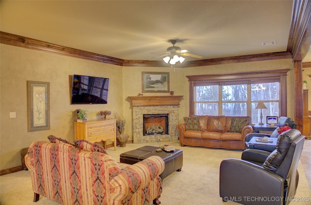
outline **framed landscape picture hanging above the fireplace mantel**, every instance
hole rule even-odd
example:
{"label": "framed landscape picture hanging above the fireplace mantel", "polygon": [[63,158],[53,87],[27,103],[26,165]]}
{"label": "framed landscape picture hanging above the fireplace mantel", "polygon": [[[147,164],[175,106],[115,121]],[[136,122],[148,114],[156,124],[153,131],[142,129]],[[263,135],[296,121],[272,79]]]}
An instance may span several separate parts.
{"label": "framed landscape picture hanging above the fireplace mantel", "polygon": [[142,72],[142,92],[170,92],[170,73]]}

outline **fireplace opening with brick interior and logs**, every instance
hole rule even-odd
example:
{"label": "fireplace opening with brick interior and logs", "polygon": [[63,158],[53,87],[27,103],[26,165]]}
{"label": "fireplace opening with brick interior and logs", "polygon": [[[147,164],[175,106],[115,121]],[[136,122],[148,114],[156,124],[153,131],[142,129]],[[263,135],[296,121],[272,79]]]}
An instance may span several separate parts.
{"label": "fireplace opening with brick interior and logs", "polygon": [[168,135],[169,114],[143,115],[143,135]]}

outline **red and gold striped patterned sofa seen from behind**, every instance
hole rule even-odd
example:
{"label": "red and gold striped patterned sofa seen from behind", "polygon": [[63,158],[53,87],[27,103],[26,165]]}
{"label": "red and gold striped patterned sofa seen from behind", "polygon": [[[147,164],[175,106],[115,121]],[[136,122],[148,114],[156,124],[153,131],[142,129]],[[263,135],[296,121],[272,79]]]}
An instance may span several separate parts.
{"label": "red and gold striped patterned sofa seen from behind", "polygon": [[62,205],[159,204],[164,161],[149,157],[134,165],[122,164],[102,146],[86,140],[70,143],[49,136],[35,141],[25,156],[35,192]]}

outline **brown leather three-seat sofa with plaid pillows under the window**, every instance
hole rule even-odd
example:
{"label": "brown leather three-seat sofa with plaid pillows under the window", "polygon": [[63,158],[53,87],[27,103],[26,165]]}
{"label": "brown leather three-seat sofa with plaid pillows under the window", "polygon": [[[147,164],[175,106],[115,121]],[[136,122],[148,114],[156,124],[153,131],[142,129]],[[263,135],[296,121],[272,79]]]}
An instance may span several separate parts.
{"label": "brown leather three-seat sofa with plaid pillows under the window", "polygon": [[249,116],[190,116],[184,121],[176,126],[181,146],[244,150],[245,136],[253,132]]}

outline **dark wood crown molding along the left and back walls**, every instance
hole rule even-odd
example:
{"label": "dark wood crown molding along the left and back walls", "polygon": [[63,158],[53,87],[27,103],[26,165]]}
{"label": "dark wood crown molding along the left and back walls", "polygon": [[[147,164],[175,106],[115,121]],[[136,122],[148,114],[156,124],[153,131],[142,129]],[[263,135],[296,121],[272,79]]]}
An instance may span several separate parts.
{"label": "dark wood crown molding along the left and back walls", "polygon": [[[0,43],[11,46],[17,46],[27,49],[49,51],[61,55],[82,58],[86,60],[98,61],[102,63],[124,66],[124,67],[169,67],[163,61],[146,61],[146,60],[123,60],[120,58],[114,58],[107,55],[98,53],[82,51],[78,49],[69,48],[66,46],[56,45],[45,41],[36,40],[16,34],[10,34],[0,31]],[[200,66],[211,66],[228,63],[242,63],[242,62],[253,62],[253,61],[265,61],[265,60],[277,60],[292,58],[290,52],[274,52],[274,53],[263,53],[255,55],[243,55],[226,58],[214,58],[205,60],[186,61],[179,68],[189,67],[200,67]],[[176,66],[177,67],[177,66]]]}

